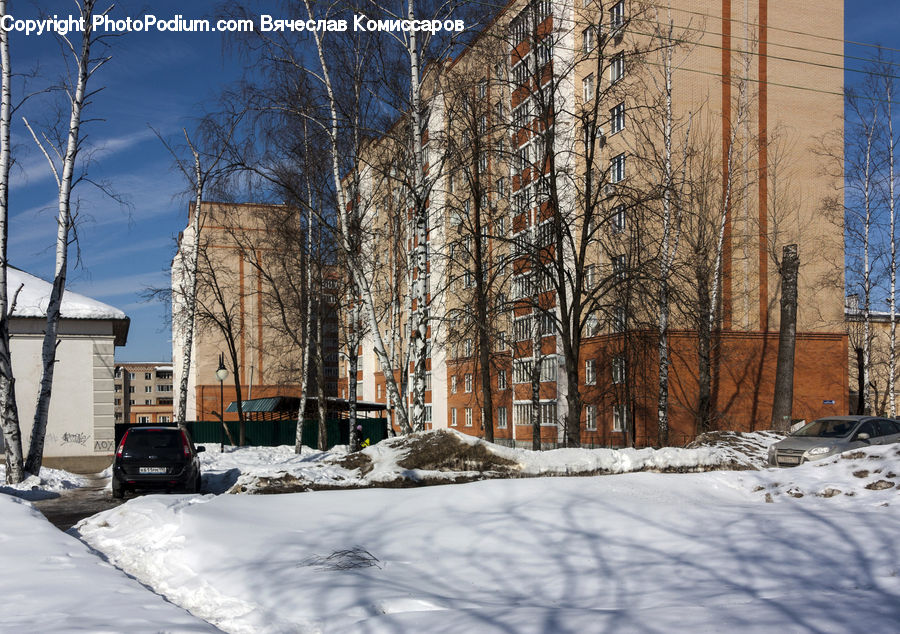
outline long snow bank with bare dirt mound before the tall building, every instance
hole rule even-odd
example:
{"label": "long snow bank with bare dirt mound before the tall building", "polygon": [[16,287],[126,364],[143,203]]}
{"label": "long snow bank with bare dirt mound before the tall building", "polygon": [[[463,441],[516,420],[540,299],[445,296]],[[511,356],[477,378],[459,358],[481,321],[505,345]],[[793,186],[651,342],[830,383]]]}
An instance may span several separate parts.
{"label": "long snow bank with bare dirt mound before the tall building", "polygon": [[346,446],[320,452],[307,447],[254,447],[201,454],[204,491],[284,493],[370,486],[416,486],[544,475],[597,475],[633,471],[709,471],[765,466],[768,432],[723,435],[694,448],[554,449],[531,451],[485,442],[454,430],[384,440],[350,454]]}

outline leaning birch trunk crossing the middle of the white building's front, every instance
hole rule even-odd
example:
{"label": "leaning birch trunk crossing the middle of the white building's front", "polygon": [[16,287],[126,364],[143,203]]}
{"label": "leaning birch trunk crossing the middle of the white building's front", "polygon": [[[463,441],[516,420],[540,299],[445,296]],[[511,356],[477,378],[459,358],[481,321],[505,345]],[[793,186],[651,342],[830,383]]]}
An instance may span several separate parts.
{"label": "leaning birch trunk crossing the middle of the white building's front", "polygon": [[50,413],[50,394],[53,388],[53,370],[56,365],[56,347],[59,345],[56,335],[59,331],[60,309],[62,307],[63,294],[66,288],[69,231],[72,226],[70,200],[72,195],[72,180],[75,174],[75,159],[78,154],[78,145],[81,140],[81,111],[84,107],[85,95],[87,94],[88,79],[97,68],[97,66],[93,69],[90,68],[91,44],[93,42],[93,29],[91,26],[93,11],[94,0],[85,0],[84,5],[81,8],[85,27],[81,38],[81,52],[78,55],[77,60],[78,79],[75,84],[74,92],[68,93],[71,100],[69,132],[66,140],[66,151],[62,162],[62,171],[57,177],[59,197],[57,202],[58,211],[56,220],[56,267],[53,275],[53,284],[50,290],[50,300],[47,304],[47,326],[44,331],[44,342],[41,346],[42,369],[40,390],[38,392],[37,405],[35,407],[34,425],[31,431],[31,443],[28,448],[28,459],[25,462],[25,471],[34,475],[40,473],[44,457],[44,439],[47,435],[47,420]]}

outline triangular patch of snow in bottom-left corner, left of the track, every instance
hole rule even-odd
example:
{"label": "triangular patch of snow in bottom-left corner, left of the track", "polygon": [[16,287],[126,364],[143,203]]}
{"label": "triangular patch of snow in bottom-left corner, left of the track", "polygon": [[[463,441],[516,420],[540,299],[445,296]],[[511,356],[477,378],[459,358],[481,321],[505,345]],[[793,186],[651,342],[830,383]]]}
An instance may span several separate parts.
{"label": "triangular patch of snow in bottom-left corner, left of the track", "polygon": [[0,495],[0,517],[0,631],[213,631],[61,533],[30,504]]}

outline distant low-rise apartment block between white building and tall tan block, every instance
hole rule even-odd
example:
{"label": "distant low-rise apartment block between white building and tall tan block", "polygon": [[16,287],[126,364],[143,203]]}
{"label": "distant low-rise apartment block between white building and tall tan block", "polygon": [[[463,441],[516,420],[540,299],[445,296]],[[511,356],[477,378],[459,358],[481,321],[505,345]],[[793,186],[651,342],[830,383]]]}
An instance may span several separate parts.
{"label": "distant low-rise apartment block between white building and tall tan block", "polygon": [[174,420],[170,362],[119,363],[113,389],[117,423],[170,423]]}

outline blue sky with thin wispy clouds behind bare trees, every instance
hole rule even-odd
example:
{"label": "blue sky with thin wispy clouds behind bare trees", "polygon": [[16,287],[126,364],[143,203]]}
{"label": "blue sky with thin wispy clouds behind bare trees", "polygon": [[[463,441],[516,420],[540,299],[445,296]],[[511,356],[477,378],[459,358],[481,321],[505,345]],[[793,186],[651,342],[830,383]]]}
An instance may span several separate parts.
{"label": "blue sky with thin wispy clouds behind bare trees", "polygon": [[[260,2],[280,15],[278,2]],[[50,13],[68,15],[69,2],[43,2]],[[143,4],[126,1],[119,17],[141,15]],[[160,19],[217,17],[215,3],[162,0],[152,4]],[[845,38],[900,49],[895,0],[861,1],[847,11]],[[18,11],[18,13],[17,13]],[[36,17],[29,3],[14,2],[16,17]],[[171,341],[166,314],[156,303],[142,299],[148,286],[167,284],[166,272],[174,240],[186,222],[186,183],[172,169],[172,158],[149,126],[178,142],[182,127],[192,128],[204,103],[216,99],[228,82],[242,75],[242,63],[227,53],[227,40],[218,33],[128,33],[114,38],[112,60],[95,77],[104,90],[94,98],[86,116],[101,119],[87,124],[88,146],[95,151],[91,177],[108,182],[125,196],[129,207],[106,198],[90,185],[76,191],[83,222],[79,229],[82,266],[70,268],[69,288],[124,310],[131,317],[128,345],[119,348],[120,361],[168,360]],[[871,57],[873,49],[847,46],[847,53]],[[13,34],[14,70],[39,64],[41,74],[61,72],[59,45],[52,35]],[[900,57],[900,53],[897,53]],[[858,67],[858,63],[852,65]],[[855,74],[847,76],[855,80]],[[10,193],[10,261],[32,274],[53,275],[55,186],[43,157],[18,115],[40,120],[46,100],[36,100],[17,113],[13,140],[18,144]]]}

